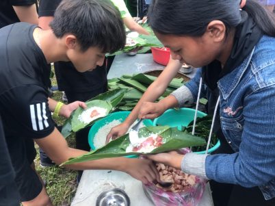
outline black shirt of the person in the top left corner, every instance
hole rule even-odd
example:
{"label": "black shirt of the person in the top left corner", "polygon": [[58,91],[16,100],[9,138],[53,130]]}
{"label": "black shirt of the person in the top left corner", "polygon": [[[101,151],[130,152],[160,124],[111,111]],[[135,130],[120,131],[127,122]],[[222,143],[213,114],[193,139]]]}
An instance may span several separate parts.
{"label": "black shirt of the person in the top left corner", "polygon": [[0,28],[12,23],[20,22],[13,5],[32,5],[37,3],[36,0],[1,0],[0,1]]}

